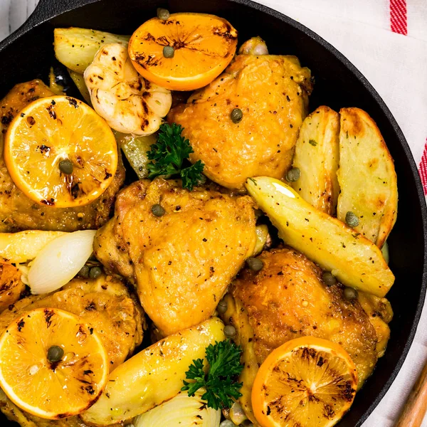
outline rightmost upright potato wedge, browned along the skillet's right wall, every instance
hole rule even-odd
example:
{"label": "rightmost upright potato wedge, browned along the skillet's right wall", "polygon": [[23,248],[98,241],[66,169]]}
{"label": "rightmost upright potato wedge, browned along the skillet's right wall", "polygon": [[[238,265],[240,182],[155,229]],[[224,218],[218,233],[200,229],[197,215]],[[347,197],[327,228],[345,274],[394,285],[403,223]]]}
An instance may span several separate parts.
{"label": "rightmost upright potato wedge, browned along the skillet's right wall", "polygon": [[374,120],[359,108],[342,108],[339,132],[337,218],[351,211],[354,227],[376,246],[383,246],[396,222],[397,178],[394,162]]}

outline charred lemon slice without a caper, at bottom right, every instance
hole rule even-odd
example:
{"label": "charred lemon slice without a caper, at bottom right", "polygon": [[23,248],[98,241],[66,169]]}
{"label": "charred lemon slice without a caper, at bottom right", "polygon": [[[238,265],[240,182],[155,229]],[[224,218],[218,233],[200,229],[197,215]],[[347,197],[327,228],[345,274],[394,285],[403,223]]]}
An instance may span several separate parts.
{"label": "charred lemon slice without a caper, at bottom right", "polygon": [[330,427],[348,411],[356,389],[356,367],[339,344],[291,339],[261,365],[253,412],[263,427]]}

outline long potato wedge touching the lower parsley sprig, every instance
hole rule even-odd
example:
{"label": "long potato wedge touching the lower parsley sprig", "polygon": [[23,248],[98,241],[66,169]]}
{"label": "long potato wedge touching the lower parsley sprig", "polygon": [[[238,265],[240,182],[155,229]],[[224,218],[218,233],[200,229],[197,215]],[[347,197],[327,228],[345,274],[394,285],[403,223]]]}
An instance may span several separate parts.
{"label": "long potato wedge touching the lower parsley sprig", "polygon": [[225,339],[223,326],[211,317],[135,354],[112,371],[100,399],[80,417],[90,425],[108,426],[172,399],[193,359],[204,359],[209,344]]}

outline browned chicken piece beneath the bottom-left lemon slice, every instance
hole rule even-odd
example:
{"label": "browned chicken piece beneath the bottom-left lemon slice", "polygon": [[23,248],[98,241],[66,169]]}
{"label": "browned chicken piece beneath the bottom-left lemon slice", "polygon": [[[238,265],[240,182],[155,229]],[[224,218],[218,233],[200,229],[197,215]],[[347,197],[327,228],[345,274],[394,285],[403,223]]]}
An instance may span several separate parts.
{"label": "browned chicken piece beneath the bottom-left lemon slice", "polygon": [[[60,308],[78,315],[92,326],[107,350],[110,371],[125,362],[141,344],[146,329],[144,313],[122,280],[102,275],[97,279],[75,278],[58,292],[19,300],[1,313],[0,334],[16,317],[39,307]],[[78,416],[53,421],[21,411],[1,390],[0,409],[22,427],[85,427]]]}

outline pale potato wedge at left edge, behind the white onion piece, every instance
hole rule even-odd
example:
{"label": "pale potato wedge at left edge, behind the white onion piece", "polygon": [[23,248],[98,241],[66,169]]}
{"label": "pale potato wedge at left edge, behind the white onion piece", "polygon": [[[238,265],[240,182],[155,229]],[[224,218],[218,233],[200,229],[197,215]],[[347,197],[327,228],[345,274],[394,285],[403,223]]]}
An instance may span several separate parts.
{"label": "pale potato wedge at left edge, behind the white onion piece", "polygon": [[63,231],[19,231],[0,233],[0,260],[4,263],[26,263],[36,258],[41,249]]}

